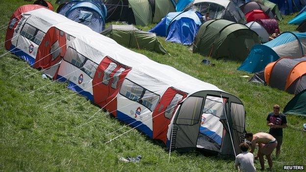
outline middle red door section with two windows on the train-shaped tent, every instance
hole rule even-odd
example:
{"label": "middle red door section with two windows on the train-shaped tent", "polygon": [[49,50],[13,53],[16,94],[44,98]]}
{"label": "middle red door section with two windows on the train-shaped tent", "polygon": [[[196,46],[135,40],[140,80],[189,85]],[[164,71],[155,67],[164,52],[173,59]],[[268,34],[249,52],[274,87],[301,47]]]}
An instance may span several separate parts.
{"label": "middle red door section with two windows on the train-shaped tent", "polygon": [[93,78],[94,102],[116,116],[117,99],[125,77],[130,71],[130,67],[125,66],[114,59],[106,56],[98,66]]}

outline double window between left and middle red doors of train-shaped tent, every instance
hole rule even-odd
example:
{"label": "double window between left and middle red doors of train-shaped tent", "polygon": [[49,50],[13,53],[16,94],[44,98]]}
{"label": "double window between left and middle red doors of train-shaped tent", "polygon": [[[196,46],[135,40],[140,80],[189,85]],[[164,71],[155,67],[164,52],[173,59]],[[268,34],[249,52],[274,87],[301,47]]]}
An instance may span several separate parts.
{"label": "double window between left and middle red doors of train-shaped tent", "polygon": [[98,64],[69,47],[65,53],[64,60],[79,68],[91,78],[94,77]]}

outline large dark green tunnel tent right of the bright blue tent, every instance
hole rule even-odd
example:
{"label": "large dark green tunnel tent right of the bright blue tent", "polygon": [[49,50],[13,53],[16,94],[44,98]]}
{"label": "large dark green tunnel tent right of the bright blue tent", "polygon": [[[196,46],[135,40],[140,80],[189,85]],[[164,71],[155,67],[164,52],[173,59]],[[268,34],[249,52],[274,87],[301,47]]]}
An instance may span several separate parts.
{"label": "large dark green tunnel tent right of the bright blue tent", "polygon": [[218,19],[201,25],[191,48],[204,56],[243,61],[259,43],[257,33],[246,25]]}

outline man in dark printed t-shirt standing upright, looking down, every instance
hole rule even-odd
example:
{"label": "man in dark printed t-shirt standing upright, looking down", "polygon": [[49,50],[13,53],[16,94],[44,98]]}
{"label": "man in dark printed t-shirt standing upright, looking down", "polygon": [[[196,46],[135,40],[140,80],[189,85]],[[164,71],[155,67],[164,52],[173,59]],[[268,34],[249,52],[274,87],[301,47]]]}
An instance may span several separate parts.
{"label": "man in dark printed t-shirt standing upright, looking down", "polygon": [[286,116],[280,113],[280,105],[273,106],[273,112],[267,117],[267,125],[270,126],[269,134],[276,138],[278,145],[276,147],[276,157],[280,155],[280,147],[282,144],[282,128],[287,127]]}

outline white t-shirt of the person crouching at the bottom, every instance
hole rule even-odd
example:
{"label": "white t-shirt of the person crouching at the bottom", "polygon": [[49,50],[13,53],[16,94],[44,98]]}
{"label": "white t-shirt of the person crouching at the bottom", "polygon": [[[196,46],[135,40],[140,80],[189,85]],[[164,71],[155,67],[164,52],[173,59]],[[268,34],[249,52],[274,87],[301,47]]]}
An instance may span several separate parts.
{"label": "white t-shirt of the person crouching at the bottom", "polygon": [[250,152],[242,152],[236,156],[235,165],[239,165],[241,172],[255,172],[254,155]]}

